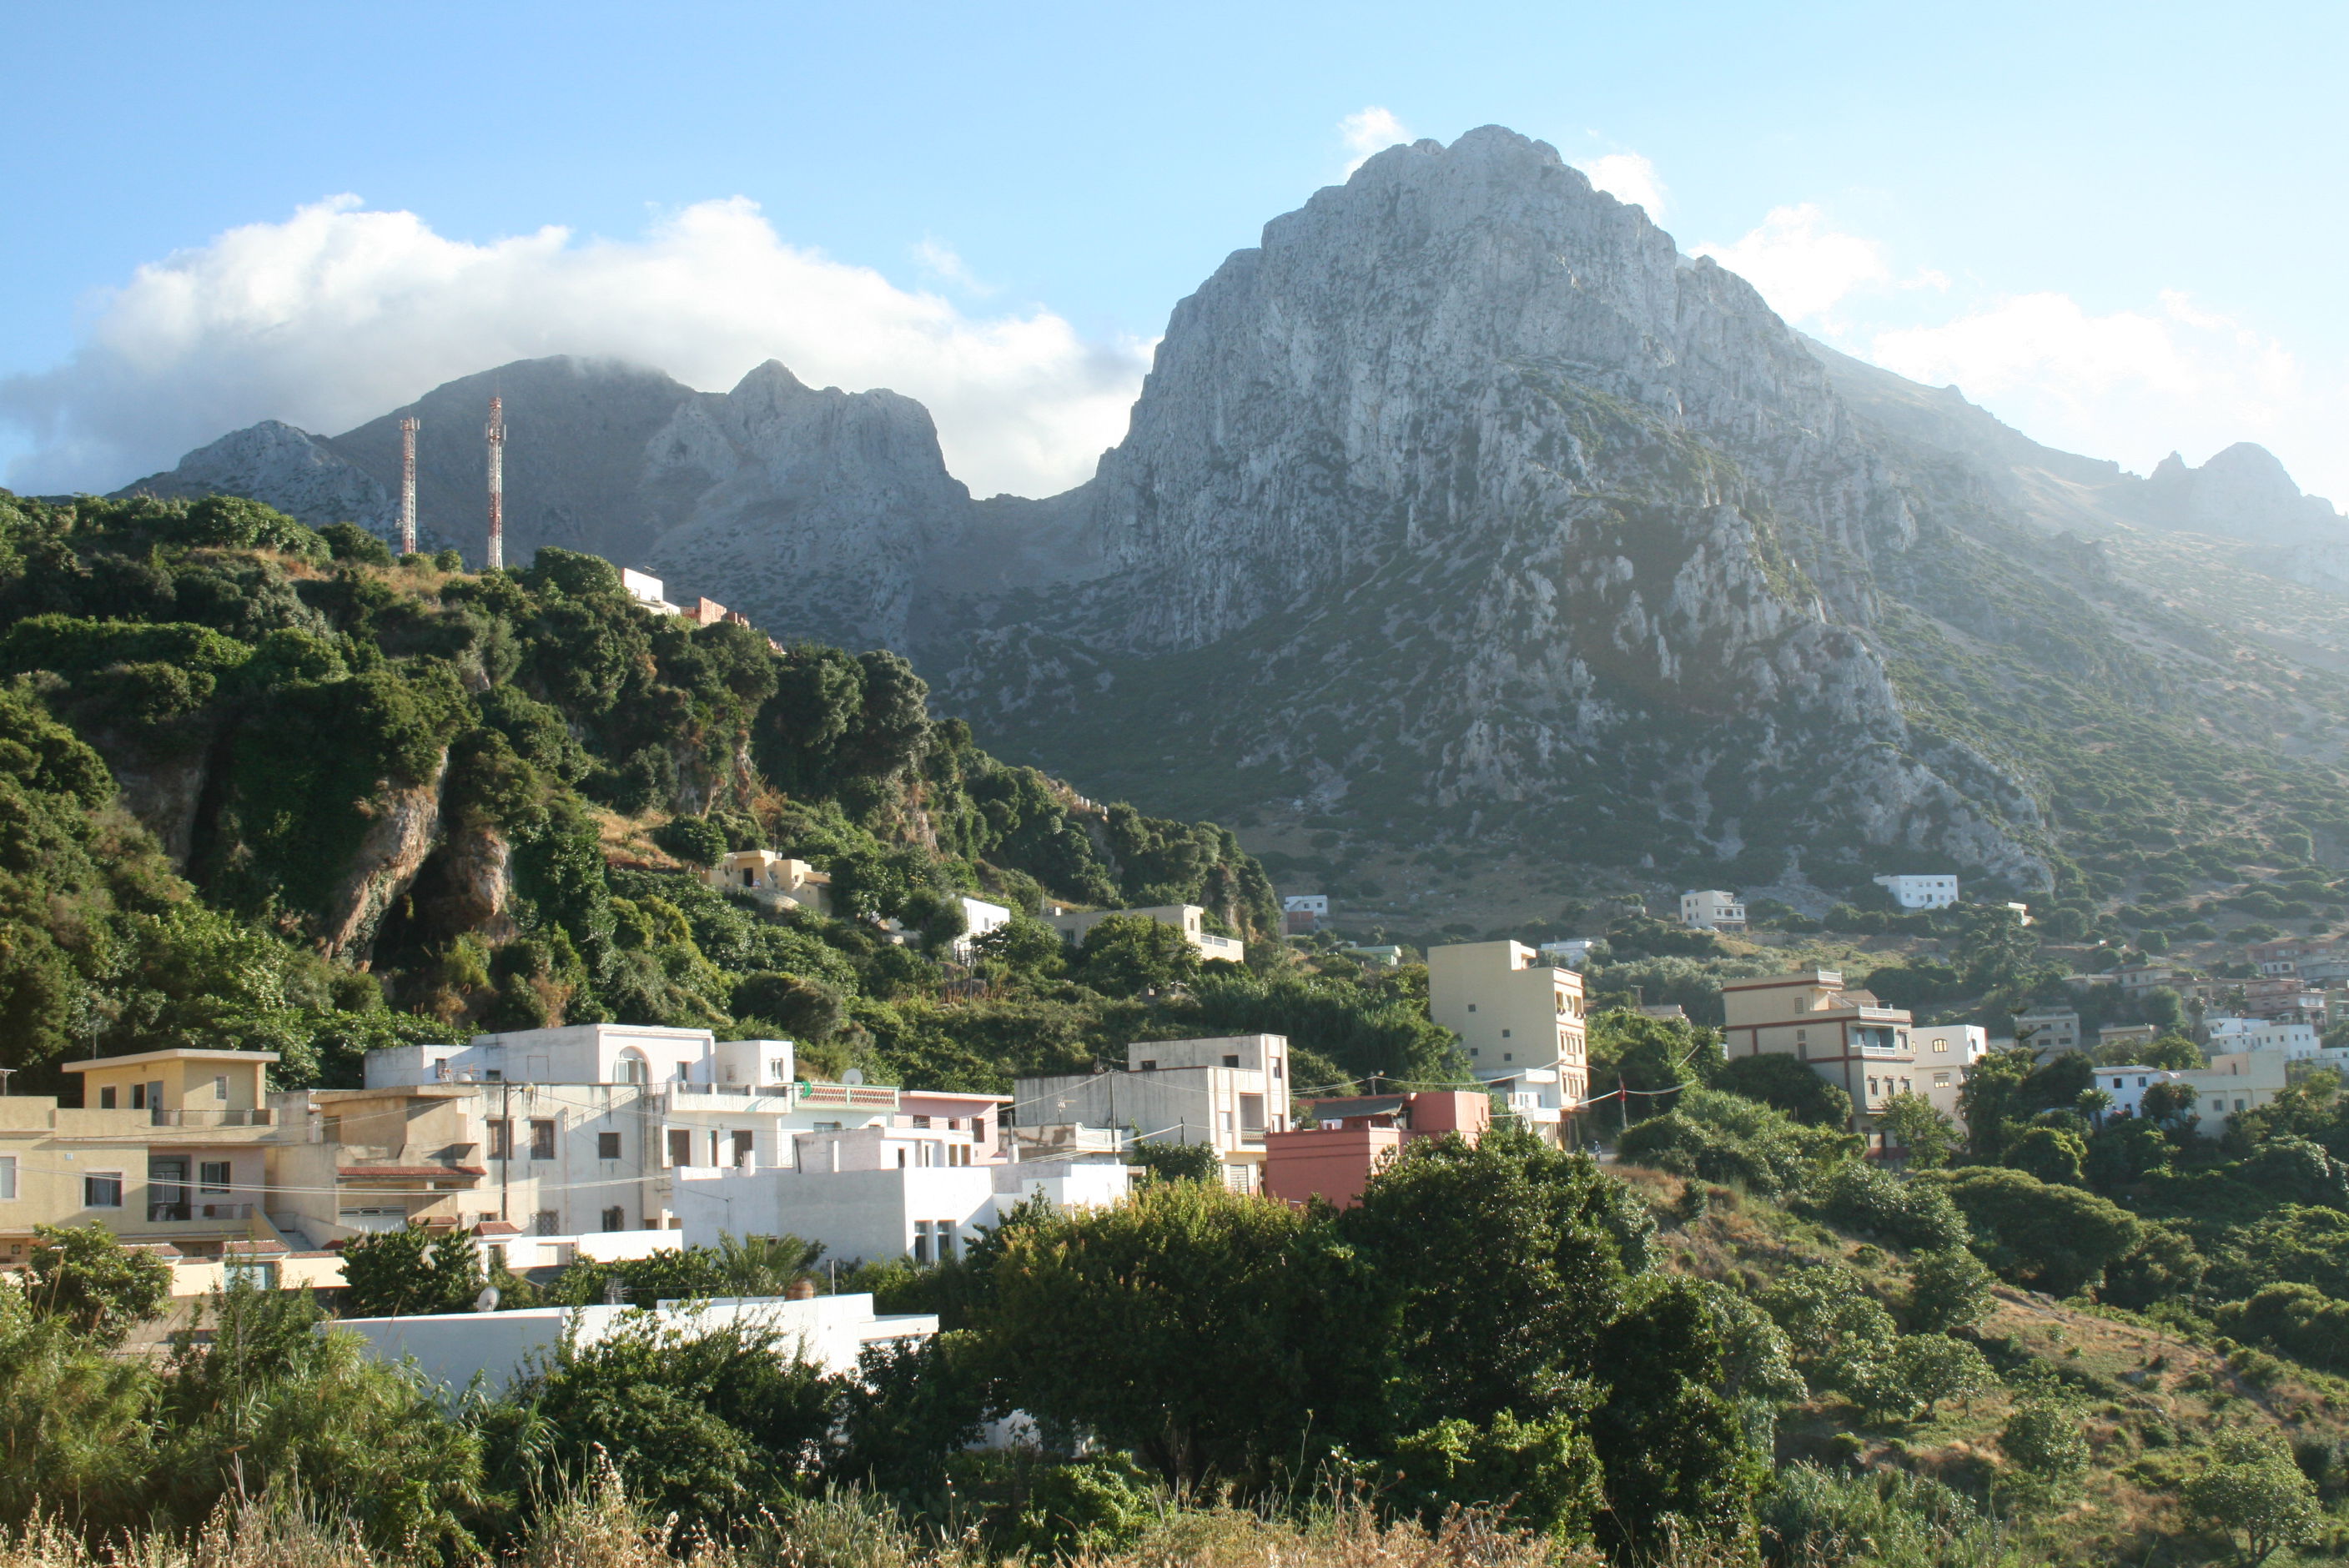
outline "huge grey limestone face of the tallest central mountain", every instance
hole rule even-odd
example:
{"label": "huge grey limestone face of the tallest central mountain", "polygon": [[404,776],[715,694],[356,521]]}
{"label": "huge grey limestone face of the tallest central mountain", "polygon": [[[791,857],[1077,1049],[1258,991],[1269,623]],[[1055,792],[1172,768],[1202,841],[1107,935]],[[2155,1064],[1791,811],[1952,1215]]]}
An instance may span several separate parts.
{"label": "huge grey limestone face of the tallest central mountain", "polygon": [[2027,791],[1903,716],[1870,627],[1917,519],[1818,359],[1541,143],[1395,148],[1276,218],[1085,505],[1106,575],[972,615],[982,730],[1083,756],[1179,667],[1156,728],[1233,796],[2044,876]]}

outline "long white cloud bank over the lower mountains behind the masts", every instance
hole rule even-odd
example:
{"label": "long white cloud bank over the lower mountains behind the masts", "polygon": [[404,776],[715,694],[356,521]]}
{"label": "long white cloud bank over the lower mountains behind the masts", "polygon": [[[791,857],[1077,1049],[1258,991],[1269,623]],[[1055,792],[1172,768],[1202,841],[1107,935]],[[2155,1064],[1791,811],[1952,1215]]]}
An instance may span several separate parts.
{"label": "long white cloud bank over the lower mountains behind the masts", "polygon": [[254,420],[338,432],[533,354],[630,359],[707,390],[763,359],[810,385],[893,387],[928,404],[980,495],[1085,479],[1149,369],[1149,345],[1088,343],[1048,310],[968,317],[785,244],[747,200],[686,207],[641,239],[543,228],[467,244],[334,197],[139,268],[94,303],[68,361],[0,380],[0,420],[31,437],[9,484],[115,488]]}

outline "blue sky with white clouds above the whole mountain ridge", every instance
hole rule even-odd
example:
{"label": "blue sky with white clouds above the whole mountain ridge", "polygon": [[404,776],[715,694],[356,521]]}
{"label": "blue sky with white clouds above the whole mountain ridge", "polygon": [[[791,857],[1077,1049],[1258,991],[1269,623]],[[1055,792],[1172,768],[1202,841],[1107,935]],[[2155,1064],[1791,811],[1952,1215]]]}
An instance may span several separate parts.
{"label": "blue sky with white clouds above the whole mountain ridge", "polygon": [[[1541,136],[1806,331],[2135,469],[2349,500],[2349,7],[19,7],[0,465],[115,486],[519,352],[775,354],[975,488],[1384,136]],[[334,197],[352,197],[329,204]]]}

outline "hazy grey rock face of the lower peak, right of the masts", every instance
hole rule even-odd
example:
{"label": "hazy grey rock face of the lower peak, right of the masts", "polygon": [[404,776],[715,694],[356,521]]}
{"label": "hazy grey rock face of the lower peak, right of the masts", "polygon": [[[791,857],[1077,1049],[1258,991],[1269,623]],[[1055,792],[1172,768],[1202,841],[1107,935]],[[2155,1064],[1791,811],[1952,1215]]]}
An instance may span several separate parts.
{"label": "hazy grey rock face of the lower peak, right of the masts", "polygon": [[930,411],[895,392],[822,392],[768,359],[677,408],[644,491],[691,498],[651,566],[770,631],[904,643],[914,580],[970,521]]}

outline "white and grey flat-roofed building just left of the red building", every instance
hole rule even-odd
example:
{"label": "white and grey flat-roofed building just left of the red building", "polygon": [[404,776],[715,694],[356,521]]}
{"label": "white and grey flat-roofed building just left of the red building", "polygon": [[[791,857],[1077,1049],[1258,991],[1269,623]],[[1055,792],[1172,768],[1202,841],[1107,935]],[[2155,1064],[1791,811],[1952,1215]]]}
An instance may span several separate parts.
{"label": "white and grey flat-roofed building just left of the red building", "polygon": [[[1290,1127],[1290,1042],[1283,1035],[1144,1040],[1123,1073],[1022,1077],[1022,1134],[1052,1127],[1130,1129],[1142,1143],[1205,1143],[1233,1190],[1261,1188],[1264,1136]],[[1027,1160],[1027,1150],[1022,1150]]]}

